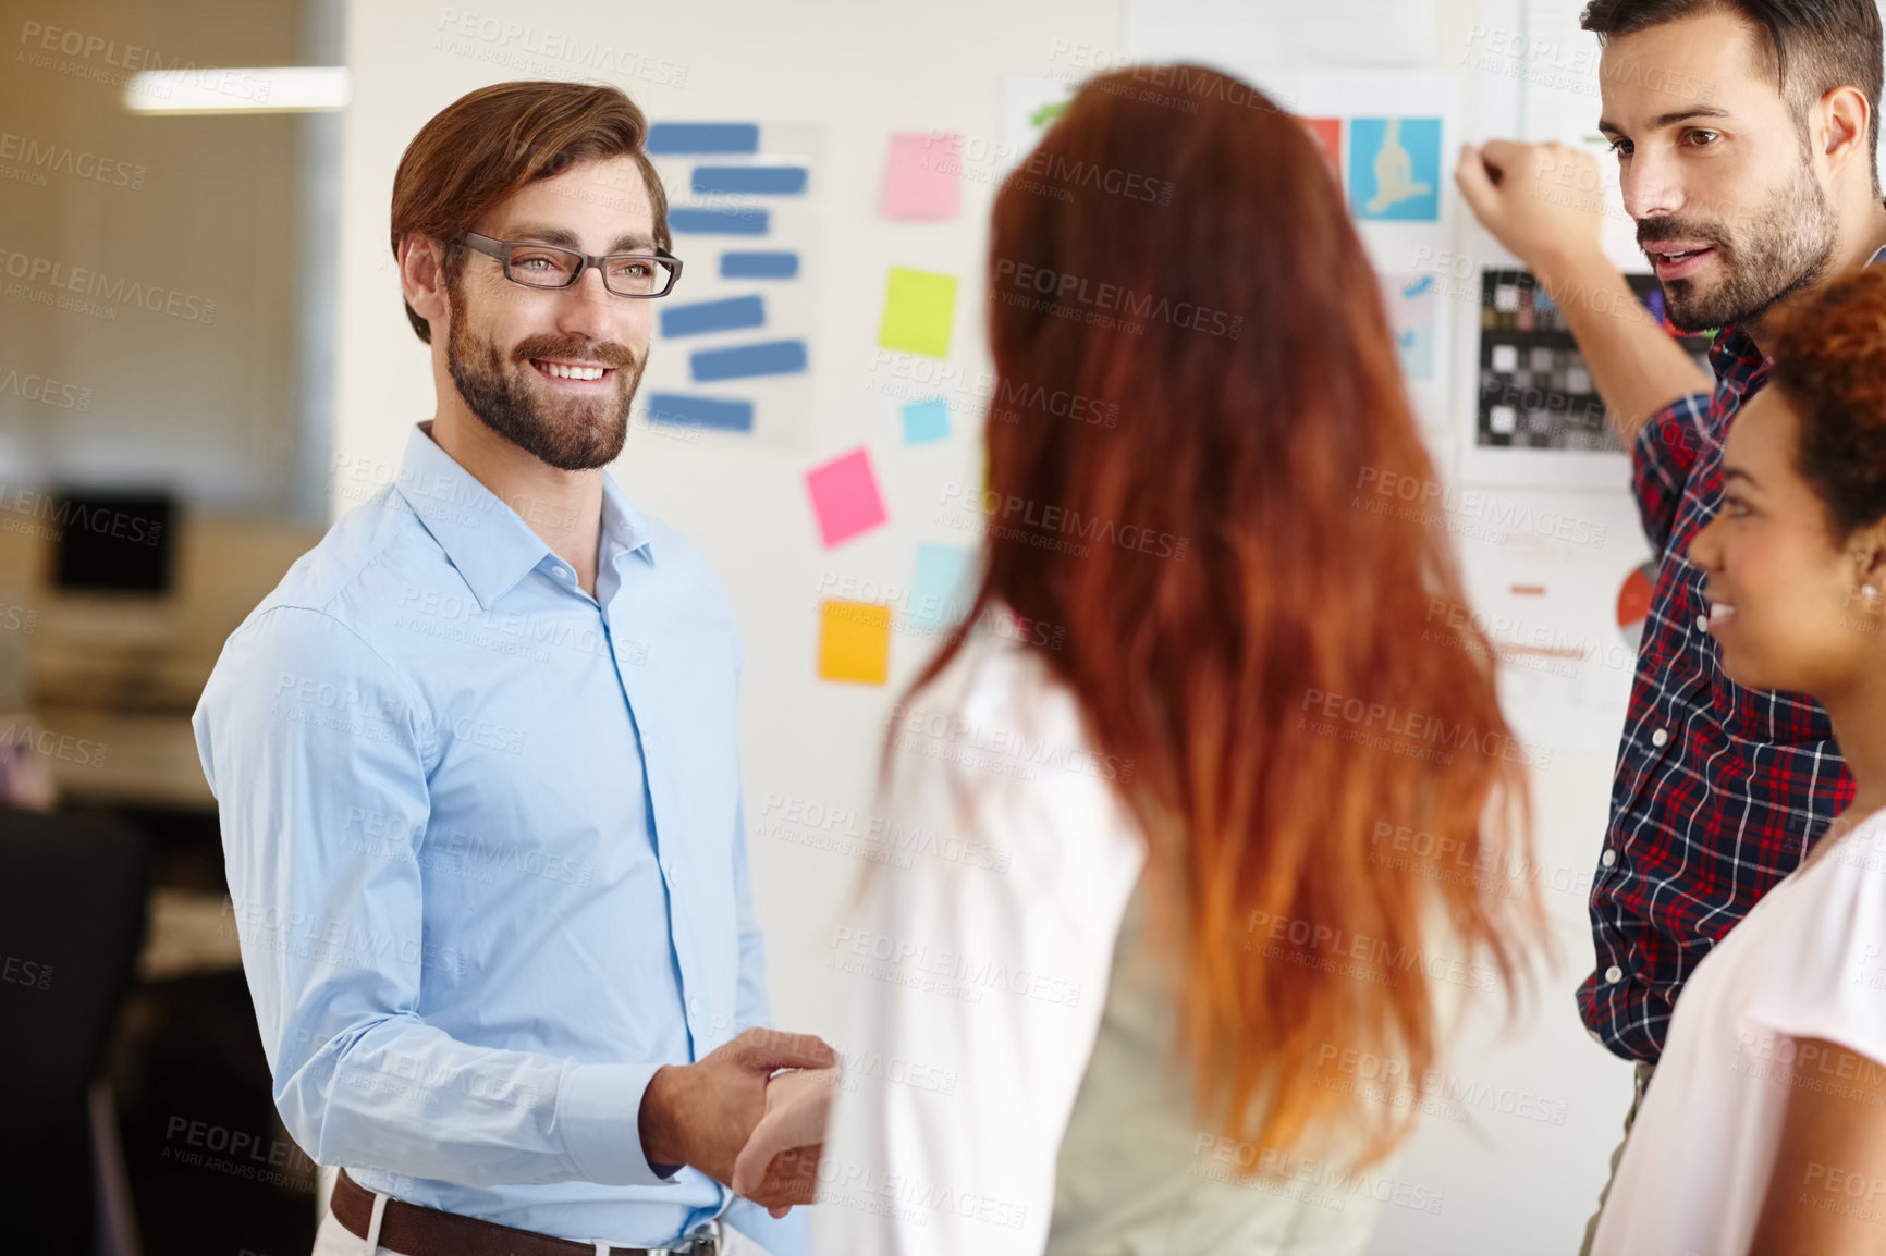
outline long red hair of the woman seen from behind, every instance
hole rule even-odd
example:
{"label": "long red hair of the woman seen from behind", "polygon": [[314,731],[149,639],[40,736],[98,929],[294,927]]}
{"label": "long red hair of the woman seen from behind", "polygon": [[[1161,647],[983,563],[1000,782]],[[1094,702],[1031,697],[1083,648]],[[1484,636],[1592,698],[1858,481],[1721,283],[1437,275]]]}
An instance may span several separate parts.
{"label": "long red hair of the woman seen from behind", "polygon": [[1439,481],[1343,192],[1252,87],[1122,70],[1003,183],[988,275],[983,509],[1069,543],[990,528],[911,692],[984,611],[1066,628],[1030,649],[1132,764],[1201,1118],[1258,1149],[1360,1128],[1367,1164],[1418,1105],[1332,1084],[1332,1047],[1418,1086],[1452,966],[1405,956],[1513,992],[1543,913],[1486,875],[1530,866],[1526,749],[1448,534],[1379,490]]}

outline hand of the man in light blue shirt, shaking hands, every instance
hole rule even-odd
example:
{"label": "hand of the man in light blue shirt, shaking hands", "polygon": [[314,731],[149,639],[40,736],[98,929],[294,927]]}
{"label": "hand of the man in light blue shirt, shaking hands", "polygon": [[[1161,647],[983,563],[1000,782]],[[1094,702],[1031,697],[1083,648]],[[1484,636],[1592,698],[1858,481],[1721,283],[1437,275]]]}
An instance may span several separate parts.
{"label": "hand of the man in light blue shirt, shaking hands", "polygon": [[[649,1164],[687,1164],[734,1184],[734,1162],[766,1116],[766,1082],[777,1069],[826,1069],[837,1054],[811,1033],[747,1030],[694,1064],[656,1069],[641,1094],[641,1154]],[[803,1203],[771,1198],[766,1186],[754,1203]]]}

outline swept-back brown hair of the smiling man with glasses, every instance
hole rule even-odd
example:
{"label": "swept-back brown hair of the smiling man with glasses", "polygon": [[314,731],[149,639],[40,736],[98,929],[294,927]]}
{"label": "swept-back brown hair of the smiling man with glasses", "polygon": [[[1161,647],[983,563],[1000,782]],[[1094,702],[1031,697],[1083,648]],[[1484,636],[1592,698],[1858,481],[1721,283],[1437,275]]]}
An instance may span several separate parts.
{"label": "swept-back brown hair of the smiling man with glasses", "polygon": [[[458,279],[466,251],[458,238],[511,192],[564,174],[571,166],[634,157],[654,207],[654,243],[668,240],[668,192],[645,143],[649,119],[620,89],[596,83],[492,83],[460,96],[405,145],[392,175],[392,256],[400,238],[430,236],[445,251],[447,285]],[[407,306],[419,339],[432,328]]]}

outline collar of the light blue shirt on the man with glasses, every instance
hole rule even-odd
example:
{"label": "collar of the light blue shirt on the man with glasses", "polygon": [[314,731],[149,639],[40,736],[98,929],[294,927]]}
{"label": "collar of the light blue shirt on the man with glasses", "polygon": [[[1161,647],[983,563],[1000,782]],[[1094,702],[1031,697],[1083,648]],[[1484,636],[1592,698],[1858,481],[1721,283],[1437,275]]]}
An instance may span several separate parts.
{"label": "collar of the light blue shirt on the man with glasses", "polygon": [[[556,562],[551,547],[517,511],[438,447],[430,419],[413,424],[407,434],[394,487],[485,611],[534,568]],[[604,562],[620,564],[632,553],[643,562],[654,562],[647,517],[607,471],[602,477],[598,553]]]}

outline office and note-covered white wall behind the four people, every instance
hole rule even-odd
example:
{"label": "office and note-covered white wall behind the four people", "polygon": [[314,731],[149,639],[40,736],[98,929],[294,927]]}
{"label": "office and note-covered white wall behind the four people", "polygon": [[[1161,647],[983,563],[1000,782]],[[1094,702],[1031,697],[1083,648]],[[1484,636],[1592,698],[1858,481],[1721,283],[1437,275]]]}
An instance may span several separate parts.
{"label": "office and note-covered white wall behind the four people", "polygon": [[[1241,75],[1326,145],[1448,477],[1416,488],[1475,603],[1409,632],[1488,630],[1533,766],[1541,860],[1516,873],[1563,964],[1513,1033],[1479,1026],[1407,1154],[1358,1186],[1388,1201],[1371,1250],[1575,1250],[1631,1084],[1571,990],[1650,554],[1569,336],[1450,172],[1494,136],[1601,147],[1579,8],[0,0],[0,1075],[38,1250],[311,1243],[315,1167],[270,1099],[189,713],[230,630],[430,415],[387,243],[419,126],[558,77],[620,87],[658,128],[687,275],[613,473],[732,594],[775,1018],[830,1035],[869,981],[847,958],[875,939],[835,924],[866,866],[1005,869],[886,834],[871,771],[992,524],[994,189],[1081,79],[1132,60]],[[1601,168],[1607,249],[1643,272]],[[1358,509],[1401,488],[1358,481]],[[1422,835],[1382,839],[1394,858]],[[952,1090],[924,1060],[862,1066]]]}

